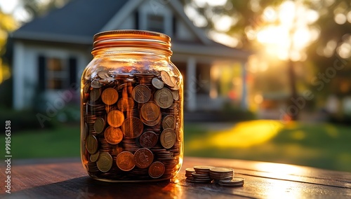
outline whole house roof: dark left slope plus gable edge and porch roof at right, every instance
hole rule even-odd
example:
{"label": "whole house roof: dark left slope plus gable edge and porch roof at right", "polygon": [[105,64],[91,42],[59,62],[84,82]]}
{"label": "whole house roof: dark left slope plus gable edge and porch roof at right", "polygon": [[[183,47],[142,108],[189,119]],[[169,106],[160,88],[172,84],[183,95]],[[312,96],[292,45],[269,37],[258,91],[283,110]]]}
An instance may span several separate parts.
{"label": "whole house roof: dark left slope plus gable edge and porch roof at right", "polygon": [[[91,45],[93,35],[114,29],[144,0],[72,0],[62,8],[55,9],[20,27],[13,32],[14,39],[30,41],[55,41]],[[178,18],[197,36],[200,42],[182,43],[173,40],[173,52],[214,55],[246,59],[250,53],[216,43],[195,27],[183,11],[179,1],[167,1]]]}

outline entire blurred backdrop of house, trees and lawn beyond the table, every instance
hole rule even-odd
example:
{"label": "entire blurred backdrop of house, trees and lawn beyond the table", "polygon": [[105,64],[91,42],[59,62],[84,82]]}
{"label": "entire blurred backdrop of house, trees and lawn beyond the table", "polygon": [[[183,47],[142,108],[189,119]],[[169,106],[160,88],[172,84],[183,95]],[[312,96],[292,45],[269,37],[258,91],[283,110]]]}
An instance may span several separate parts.
{"label": "entire blurred backdrop of house, trees and lawn beyond the table", "polygon": [[79,157],[79,79],[93,34],[109,29],[171,36],[185,156],[351,172],[343,0],[0,0],[0,118],[13,159]]}

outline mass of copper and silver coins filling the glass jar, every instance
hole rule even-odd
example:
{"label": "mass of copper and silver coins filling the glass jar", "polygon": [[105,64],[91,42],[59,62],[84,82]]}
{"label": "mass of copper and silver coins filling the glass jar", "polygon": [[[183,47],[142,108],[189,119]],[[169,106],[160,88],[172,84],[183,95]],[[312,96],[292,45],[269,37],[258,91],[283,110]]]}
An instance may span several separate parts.
{"label": "mass of copper and silver coins filling the glass jar", "polygon": [[183,153],[178,77],[166,71],[98,71],[82,81],[82,88],[81,151],[92,177],[175,176]]}

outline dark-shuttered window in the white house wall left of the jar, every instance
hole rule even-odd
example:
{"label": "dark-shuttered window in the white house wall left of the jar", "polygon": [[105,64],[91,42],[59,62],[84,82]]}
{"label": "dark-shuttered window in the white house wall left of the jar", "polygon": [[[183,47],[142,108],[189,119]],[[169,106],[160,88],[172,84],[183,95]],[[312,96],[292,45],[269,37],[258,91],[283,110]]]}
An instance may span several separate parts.
{"label": "dark-shuttered window in the white house wall left of the jar", "polygon": [[63,90],[75,83],[77,59],[39,56],[39,90]]}

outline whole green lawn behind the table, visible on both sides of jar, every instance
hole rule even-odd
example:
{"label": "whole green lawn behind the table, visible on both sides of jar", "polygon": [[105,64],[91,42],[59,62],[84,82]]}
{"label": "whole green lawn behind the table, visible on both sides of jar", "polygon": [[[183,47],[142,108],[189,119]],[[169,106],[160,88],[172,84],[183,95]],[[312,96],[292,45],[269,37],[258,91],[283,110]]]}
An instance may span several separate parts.
{"label": "whole green lawn behind the table, visible on both sides of jar", "polygon": [[[79,156],[79,126],[11,133],[13,158]],[[351,172],[351,127],[246,121],[185,124],[185,156],[239,158]],[[1,137],[4,141],[4,136]],[[2,150],[1,150],[2,151]]]}

